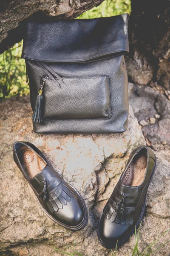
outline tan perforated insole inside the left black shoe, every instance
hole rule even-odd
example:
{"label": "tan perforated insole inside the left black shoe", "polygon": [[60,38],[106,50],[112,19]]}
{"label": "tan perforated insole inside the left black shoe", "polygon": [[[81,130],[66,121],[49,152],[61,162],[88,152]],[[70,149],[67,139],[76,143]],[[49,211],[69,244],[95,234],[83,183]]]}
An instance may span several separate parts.
{"label": "tan perforated insole inside the left black shoe", "polygon": [[28,172],[30,178],[37,175],[42,169],[45,168],[46,163],[39,157],[31,148],[22,146],[17,153],[20,163]]}

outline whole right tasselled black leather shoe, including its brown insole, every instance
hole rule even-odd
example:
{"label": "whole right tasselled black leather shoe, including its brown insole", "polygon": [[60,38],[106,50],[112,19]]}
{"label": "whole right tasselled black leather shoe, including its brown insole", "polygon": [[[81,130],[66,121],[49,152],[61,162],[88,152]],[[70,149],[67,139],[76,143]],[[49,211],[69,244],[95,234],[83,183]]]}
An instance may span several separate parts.
{"label": "whole right tasselled black leather shoe, including its brown insole", "polygon": [[103,247],[122,244],[139,225],[155,168],[156,156],[149,147],[140,146],[130,154],[99,220],[98,239]]}

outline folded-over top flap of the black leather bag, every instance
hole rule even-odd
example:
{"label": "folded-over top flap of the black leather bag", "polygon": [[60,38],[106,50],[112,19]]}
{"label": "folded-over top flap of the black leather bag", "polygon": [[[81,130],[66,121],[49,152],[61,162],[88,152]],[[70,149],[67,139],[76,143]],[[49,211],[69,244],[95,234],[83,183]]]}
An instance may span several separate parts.
{"label": "folded-over top flap of the black leather bag", "polygon": [[95,19],[62,19],[27,24],[22,58],[75,62],[129,51],[128,14]]}

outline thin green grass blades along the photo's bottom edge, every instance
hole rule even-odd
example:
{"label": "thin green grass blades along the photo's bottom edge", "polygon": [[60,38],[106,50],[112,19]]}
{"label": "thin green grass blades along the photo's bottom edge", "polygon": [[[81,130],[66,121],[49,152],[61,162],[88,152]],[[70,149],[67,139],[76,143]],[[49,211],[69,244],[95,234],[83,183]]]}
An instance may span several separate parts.
{"label": "thin green grass blades along the photo's bottom edge", "polygon": [[[170,230],[165,231],[162,235],[160,235],[158,237],[158,239],[156,239],[155,241],[153,241],[142,253],[139,253],[139,249],[138,249],[138,244],[139,244],[139,231],[140,231],[140,227],[141,224],[139,226],[138,232],[136,232],[136,228],[135,228],[135,247],[134,249],[124,255],[124,256],[150,256],[153,255],[153,253],[156,253],[157,251],[159,251],[162,247],[164,247],[165,244],[169,243],[170,240],[166,241],[164,244],[161,244],[159,246],[156,247],[156,243],[159,241],[159,239],[164,236],[164,234],[166,234],[167,232],[169,232]],[[73,250],[71,252],[71,248],[69,247],[70,252],[64,252],[62,250],[56,249],[54,248],[54,250],[56,250],[57,252],[61,253],[61,255],[70,255],[70,256],[85,256],[79,252],[77,252],[75,250],[75,241],[74,241],[74,245],[73,245]],[[117,244],[116,244],[116,248],[115,250],[111,250],[111,256],[116,256],[117,255]]]}

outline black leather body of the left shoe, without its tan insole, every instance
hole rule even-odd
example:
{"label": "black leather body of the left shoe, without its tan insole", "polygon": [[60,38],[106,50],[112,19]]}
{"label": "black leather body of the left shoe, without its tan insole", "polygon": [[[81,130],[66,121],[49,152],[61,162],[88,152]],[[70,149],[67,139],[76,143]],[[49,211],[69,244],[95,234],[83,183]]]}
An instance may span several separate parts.
{"label": "black leather body of the left shoe, without its tan insole", "polygon": [[84,201],[76,189],[68,185],[47,163],[33,178],[28,177],[26,169],[17,156],[18,145],[27,145],[46,162],[41,151],[31,143],[14,144],[14,161],[31,185],[41,207],[54,221],[70,230],[79,230],[87,223],[88,215]]}

